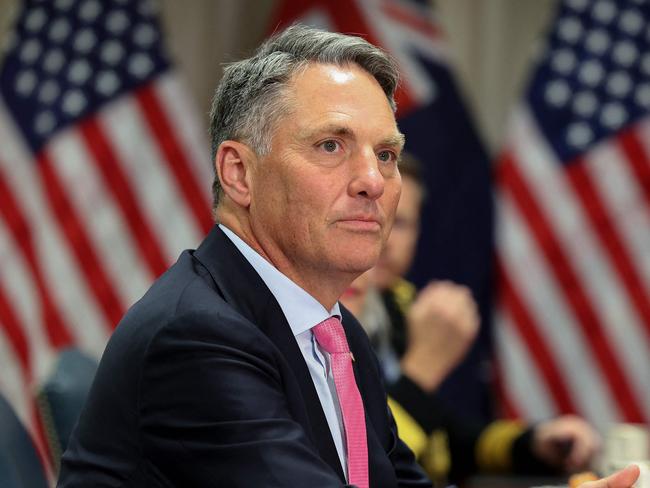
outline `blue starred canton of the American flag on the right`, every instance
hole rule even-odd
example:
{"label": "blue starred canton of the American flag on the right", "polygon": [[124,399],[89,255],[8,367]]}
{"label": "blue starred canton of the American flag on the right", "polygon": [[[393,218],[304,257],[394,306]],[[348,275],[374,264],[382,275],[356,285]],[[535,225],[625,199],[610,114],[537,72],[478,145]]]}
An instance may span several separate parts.
{"label": "blue starred canton of the American flag on the right", "polygon": [[650,2],[566,0],[527,94],[564,164],[650,110]]}

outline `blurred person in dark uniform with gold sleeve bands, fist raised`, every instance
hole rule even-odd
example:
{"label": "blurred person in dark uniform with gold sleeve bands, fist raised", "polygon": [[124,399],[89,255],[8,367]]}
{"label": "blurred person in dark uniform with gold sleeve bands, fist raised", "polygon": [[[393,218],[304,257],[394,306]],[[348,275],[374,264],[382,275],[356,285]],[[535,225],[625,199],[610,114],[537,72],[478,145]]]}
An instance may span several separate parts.
{"label": "blurred person in dark uniform with gold sleeve bands, fist raised", "polygon": [[440,484],[477,472],[541,475],[586,469],[600,437],[581,418],[486,423],[460,416],[436,396],[469,350],[480,319],[467,287],[432,281],[417,292],[403,278],[413,260],[426,195],[417,159],[403,154],[400,172],[402,195],[386,246],[375,268],[355,280],[341,299],[359,318],[380,359],[400,437]]}

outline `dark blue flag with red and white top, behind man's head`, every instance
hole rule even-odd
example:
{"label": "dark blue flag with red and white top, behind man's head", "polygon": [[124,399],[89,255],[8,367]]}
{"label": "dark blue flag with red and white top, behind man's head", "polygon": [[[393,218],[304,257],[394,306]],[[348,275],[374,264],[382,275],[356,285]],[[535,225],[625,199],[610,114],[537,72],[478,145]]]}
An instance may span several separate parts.
{"label": "dark blue flag with red and white top, behind man's head", "polygon": [[402,75],[397,119],[406,149],[424,163],[428,198],[409,278],[449,279],[479,301],[480,337],[439,394],[457,411],[489,417],[492,195],[489,161],[451,69],[452,53],[424,0],[284,0],[273,29],[291,22],[358,34],[382,46]]}

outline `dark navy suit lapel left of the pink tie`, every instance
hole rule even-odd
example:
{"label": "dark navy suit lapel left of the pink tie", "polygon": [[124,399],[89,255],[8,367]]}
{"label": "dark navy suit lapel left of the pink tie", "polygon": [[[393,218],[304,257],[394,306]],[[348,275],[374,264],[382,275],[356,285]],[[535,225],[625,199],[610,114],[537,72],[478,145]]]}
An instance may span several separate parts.
{"label": "dark navy suit lapel left of the pink tie", "polygon": [[309,369],[273,294],[218,226],[214,226],[194,256],[206,267],[224,299],[257,325],[280,350],[302,394],[309,421],[309,424],[303,424],[307,436],[321,458],[344,480],[336,446]]}

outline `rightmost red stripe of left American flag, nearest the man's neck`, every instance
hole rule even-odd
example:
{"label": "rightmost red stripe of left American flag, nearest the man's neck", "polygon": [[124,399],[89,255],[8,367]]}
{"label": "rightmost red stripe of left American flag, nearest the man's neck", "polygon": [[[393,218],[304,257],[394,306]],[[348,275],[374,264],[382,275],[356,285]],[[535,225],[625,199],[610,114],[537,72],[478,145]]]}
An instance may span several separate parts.
{"label": "rightmost red stripe of left American flag, nearest the man's neck", "polygon": [[191,164],[187,160],[187,155],[182,150],[170,121],[161,108],[158,94],[149,86],[139,90],[136,93],[136,98],[149,123],[152,133],[155,135],[162,149],[165,156],[165,163],[176,176],[183,195],[194,212],[198,227],[203,233],[207,233],[214,224],[210,209],[206,206],[205,199],[202,198],[203,191],[200,188],[199,182],[196,181],[192,174],[190,169]]}

